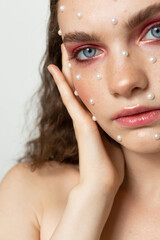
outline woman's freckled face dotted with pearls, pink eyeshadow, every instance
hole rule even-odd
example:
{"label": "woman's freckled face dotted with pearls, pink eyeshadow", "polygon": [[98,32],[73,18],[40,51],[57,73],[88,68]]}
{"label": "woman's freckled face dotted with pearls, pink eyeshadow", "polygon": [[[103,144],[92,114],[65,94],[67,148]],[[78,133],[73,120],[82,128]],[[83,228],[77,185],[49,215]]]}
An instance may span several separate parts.
{"label": "woman's freckled face dotted with pearls, pink eyeshadow", "polygon": [[73,90],[115,141],[121,136],[121,145],[130,150],[158,152],[154,136],[160,134],[160,117],[145,124],[145,116],[126,120],[124,126],[113,116],[140,106],[160,109],[159,0],[61,0],[58,6]]}

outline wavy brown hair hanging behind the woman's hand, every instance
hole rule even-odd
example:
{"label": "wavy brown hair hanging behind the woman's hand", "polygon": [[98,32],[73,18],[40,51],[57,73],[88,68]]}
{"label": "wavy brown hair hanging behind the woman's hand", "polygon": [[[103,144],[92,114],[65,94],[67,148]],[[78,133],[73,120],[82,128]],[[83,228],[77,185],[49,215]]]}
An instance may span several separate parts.
{"label": "wavy brown hair hanging behind the woman's hand", "polygon": [[[22,161],[29,162],[32,171],[50,161],[78,164],[78,146],[72,119],[47,69],[47,66],[52,63],[62,70],[62,39],[57,34],[59,30],[57,5],[58,0],[50,0],[46,51],[39,66],[42,82],[38,91],[32,96],[32,100],[35,95],[39,99],[36,126],[34,126],[34,129],[38,129],[39,136],[25,144],[25,153],[18,159],[18,163]],[[112,141],[112,139],[110,140]]]}

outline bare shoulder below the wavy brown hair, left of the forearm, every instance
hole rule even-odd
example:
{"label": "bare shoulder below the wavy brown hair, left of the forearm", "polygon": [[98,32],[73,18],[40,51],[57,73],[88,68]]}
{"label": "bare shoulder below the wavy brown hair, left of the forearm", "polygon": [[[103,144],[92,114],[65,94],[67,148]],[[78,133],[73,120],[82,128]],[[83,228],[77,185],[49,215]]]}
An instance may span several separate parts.
{"label": "bare shoulder below the wavy brown hair, left of the forearm", "polygon": [[11,168],[0,183],[1,239],[10,239],[5,235],[9,234],[17,240],[38,240],[44,212],[48,207],[54,212],[57,204],[65,202],[78,181],[79,171],[70,164],[46,163],[35,171],[28,163]]}

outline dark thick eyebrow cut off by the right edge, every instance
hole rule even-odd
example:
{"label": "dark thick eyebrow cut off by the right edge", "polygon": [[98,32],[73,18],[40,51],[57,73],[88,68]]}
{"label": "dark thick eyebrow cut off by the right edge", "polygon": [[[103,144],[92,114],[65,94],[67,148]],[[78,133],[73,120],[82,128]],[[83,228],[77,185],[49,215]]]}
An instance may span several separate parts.
{"label": "dark thick eyebrow cut off by the right edge", "polygon": [[140,12],[136,13],[134,16],[130,17],[125,27],[131,31],[140,23],[144,22],[157,13],[160,13],[160,4],[153,4],[151,6],[148,6],[147,8],[142,9]]}

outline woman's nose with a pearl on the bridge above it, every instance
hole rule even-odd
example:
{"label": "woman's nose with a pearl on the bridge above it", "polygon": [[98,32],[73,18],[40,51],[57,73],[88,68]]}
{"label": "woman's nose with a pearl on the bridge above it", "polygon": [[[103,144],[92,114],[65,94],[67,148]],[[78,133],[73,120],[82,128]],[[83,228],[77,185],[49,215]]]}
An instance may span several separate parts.
{"label": "woman's nose with a pearl on the bridge above it", "polygon": [[129,98],[148,86],[148,78],[140,66],[130,63],[111,69],[108,88],[113,96]]}

